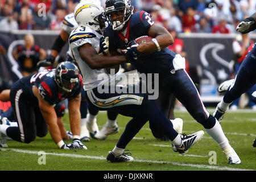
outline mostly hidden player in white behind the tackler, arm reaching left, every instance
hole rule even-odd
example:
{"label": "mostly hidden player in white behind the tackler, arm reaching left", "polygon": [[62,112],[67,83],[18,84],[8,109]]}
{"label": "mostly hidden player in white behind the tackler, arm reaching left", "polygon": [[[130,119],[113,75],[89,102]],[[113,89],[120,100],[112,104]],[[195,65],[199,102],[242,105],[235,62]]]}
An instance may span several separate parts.
{"label": "mostly hidden player in white behind the tackler, arm reaching left", "polygon": [[[87,0],[81,0],[80,2],[86,2]],[[98,1],[98,0],[96,0]],[[99,2],[100,3],[100,2]],[[60,35],[57,37],[53,46],[51,48],[51,53],[46,57],[45,60],[39,61],[37,64],[38,67],[49,67],[51,66],[56,57],[59,55],[61,49],[65,46],[65,43],[68,42],[69,35],[72,30],[78,27],[75,16],[73,13],[65,16],[63,20],[62,30],[60,31]],[[67,52],[67,61],[73,62],[73,55],[71,53],[71,49],[68,49]],[[82,90],[82,100],[81,100],[81,140],[88,142],[90,140],[90,134],[93,138],[96,139],[105,139],[109,134],[115,134],[119,131],[117,125],[117,115],[111,111],[108,111],[108,121],[104,128],[99,132],[97,125],[97,113],[98,110],[92,109],[88,106],[85,96],[84,90]],[[87,107],[89,109],[89,113],[87,114]],[[88,129],[87,129],[88,128]],[[89,130],[89,131],[88,131]],[[89,134],[90,133],[90,134]],[[96,135],[97,136],[94,136]],[[68,131],[69,137],[72,138],[72,133]]]}

